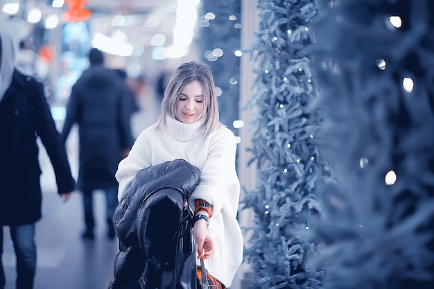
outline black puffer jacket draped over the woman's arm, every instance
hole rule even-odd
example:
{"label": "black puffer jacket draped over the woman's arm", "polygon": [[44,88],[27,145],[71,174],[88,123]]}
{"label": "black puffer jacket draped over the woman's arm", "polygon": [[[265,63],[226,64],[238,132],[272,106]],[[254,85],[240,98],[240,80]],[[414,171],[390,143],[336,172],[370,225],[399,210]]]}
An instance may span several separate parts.
{"label": "black puffer jacket draped over the woman's arm", "polygon": [[175,159],[139,170],[114,214],[120,252],[110,289],[196,288],[196,244],[184,208],[200,170]]}

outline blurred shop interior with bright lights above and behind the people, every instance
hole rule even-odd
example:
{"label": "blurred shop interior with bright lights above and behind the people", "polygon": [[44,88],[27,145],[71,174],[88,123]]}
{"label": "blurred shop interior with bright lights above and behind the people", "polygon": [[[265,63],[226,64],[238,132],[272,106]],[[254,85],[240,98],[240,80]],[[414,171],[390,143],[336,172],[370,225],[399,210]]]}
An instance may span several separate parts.
{"label": "blurred shop interior with bright lights above and behind the people", "polygon": [[[233,121],[238,119],[239,61],[220,61],[236,65],[236,69],[226,67],[237,71],[236,75],[223,78],[218,76],[219,69],[212,67],[212,62],[227,53],[228,47],[220,47],[218,42],[234,46],[229,47],[232,58],[241,56],[238,50],[241,8],[239,1],[202,2],[0,0],[0,24],[13,31],[19,68],[44,83],[56,121],[64,119],[64,106],[71,87],[89,65],[89,49],[96,47],[105,52],[107,67],[123,69],[132,85],[137,87],[140,80],[142,84],[146,82],[146,89],[138,91],[146,96],[139,96],[139,100],[142,106],[153,107],[152,113],[148,110],[152,115],[134,134],[157,118],[159,97],[167,75],[189,60],[209,62],[216,78],[223,81],[219,85],[216,80],[220,94],[227,91],[236,95],[230,98],[235,103],[220,105],[222,111],[232,114],[222,116],[226,118],[223,122],[232,127]],[[220,33],[234,35],[234,41],[228,41],[227,35],[216,35],[216,31],[200,30],[211,30],[210,21],[216,19],[214,12],[218,13],[219,9],[232,28]],[[238,55],[234,55],[234,51],[238,51]],[[149,99],[150,96],[153,99]]]}

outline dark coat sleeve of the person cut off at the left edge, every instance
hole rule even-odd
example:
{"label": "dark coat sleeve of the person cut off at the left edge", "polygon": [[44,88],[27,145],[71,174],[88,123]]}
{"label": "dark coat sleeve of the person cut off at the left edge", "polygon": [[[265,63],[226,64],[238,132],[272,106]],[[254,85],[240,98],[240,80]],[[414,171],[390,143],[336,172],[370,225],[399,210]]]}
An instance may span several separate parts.
{"label": "dark coat sleeve of the person cut off at the left edge", "polygon": [[58,193],[69,193],[75,189],[76,182],[71,175],[67,152],[55,127],[49,104],[46,103],[44,87],[36,80],[31,80],[30,83],[33,86],[33,91],[35,91],[34,94],[31,94],[33,98],[31,107],[33,111],[31,113],[35,116],[32,121],[36,133],[40,136],[49,155],[55,173]]}

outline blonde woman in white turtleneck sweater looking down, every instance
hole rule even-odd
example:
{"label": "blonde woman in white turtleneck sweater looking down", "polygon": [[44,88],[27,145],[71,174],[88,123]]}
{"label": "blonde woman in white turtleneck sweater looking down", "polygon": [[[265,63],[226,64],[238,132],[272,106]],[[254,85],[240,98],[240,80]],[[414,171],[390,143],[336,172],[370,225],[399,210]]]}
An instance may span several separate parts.
{"label": "blonde woman in white turtleneck sweater looking down", "polygon": [[231,286],[243,258],[235,158],[234,134],[219,122],[211,70],[204,62],[188,62],[168,80],[159,120],[141,132],[116,172],[120,200],[142,168],[185,159],[200,169],[200,182],[189,198],[197,216],[193,237],[207,277],[219,288]]}

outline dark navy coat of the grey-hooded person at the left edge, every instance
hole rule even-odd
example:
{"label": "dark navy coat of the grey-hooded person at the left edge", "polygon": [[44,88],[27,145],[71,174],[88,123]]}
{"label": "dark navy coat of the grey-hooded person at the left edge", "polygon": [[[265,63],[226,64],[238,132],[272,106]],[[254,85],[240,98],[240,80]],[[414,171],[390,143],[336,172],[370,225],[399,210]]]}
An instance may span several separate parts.
{"label": "dark navy coat of the grey-hooded person at the left edge", "polygon": [[58,193],[73,191],[75,181],[42,84],[17,70],[0,100],[0,133],[0,225],[36,222],[42,203],[37,137],[51,159]]}

